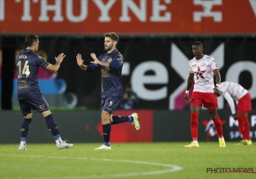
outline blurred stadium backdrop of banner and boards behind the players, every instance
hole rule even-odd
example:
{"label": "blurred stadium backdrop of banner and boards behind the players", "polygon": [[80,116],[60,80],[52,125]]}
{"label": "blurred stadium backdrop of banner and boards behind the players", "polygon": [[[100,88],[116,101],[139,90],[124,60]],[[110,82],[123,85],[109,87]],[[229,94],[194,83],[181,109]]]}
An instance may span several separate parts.
{"label": "blurred stadium backdrop of banner and boards behind the players", "polygon": [[[61,52],[67,54],[58,72],[41,69],[38,75],[61,134],[77,143],[102,141],[100,70],[83,72],[76,54],[89,64],[91,52],[97,56],[104,52],[107,32],[120,37],[123,84],[131,84],[138,97],[136,109],[119,109],[116,114],[136,111],[142,126],[136,134],[130,125],[113,126],[113,143],[191,140],[189,104],[183,97],[195,41],[204,44],[204,54],[216,59],[221,81],[237,82],[250,91],[255,141],[256,0],[0,0],[0,143],[19,143],[22,116],[14,61],[29,33],[39,35],[38,54],[50,63]],[[226,141],[241,140],[227,102],[218,100]],[[34,114],[34,119],[29,143],[52,142],[42,116]],[[69,120],[75,121],[74,126]],[[216,141],[208,111],[202,111],[199,120],[199,140]],[[35,137],[34,131],[42,135]]]}

